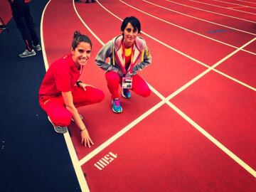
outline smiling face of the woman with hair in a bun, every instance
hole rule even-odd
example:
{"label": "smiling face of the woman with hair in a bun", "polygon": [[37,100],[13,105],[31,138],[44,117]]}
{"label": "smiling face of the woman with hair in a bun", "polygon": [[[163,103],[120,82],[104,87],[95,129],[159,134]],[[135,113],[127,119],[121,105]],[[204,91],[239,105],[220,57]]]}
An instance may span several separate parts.
{"label": "smiling face of the woman with hair in a bun", "polygon": [[85,65],[87,63],[90,58],[91,50],[90,43],[83,41],[78,43],[78,46],[75,49],[71,49],[72,58],[77,68],[79,68],[80,65]]}

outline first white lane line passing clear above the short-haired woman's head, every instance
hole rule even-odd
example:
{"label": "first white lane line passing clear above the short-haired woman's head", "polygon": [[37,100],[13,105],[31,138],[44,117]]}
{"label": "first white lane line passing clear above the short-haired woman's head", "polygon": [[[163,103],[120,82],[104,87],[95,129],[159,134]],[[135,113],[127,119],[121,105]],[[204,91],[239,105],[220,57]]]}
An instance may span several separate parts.
{"label": "first white lane line passing clear above the short-haired woman's head", "polygon": [[[203,37],[203,38],[210,39],[211,41],[215,41],[215,42],[220,43],[220,44],[223,44],[223,45],[225,45],[225,46],[229,46],[229,47],[232,47],[232,48],[238,48],[238,47],[232,46],[232,45],[230,45],[230,44],[228,44],[228,43],[224,43],[223,41],[218,41],[218,40],[216,40],[215,38],[210,38],[210,37],[208,37],[208,36],[204,36],[204,35],[202,35],[201,33],[197,33],[196,31],[192,31],[192,30],[190,30],[190,29],[188,29],[188,28],[184,28],[184,27],[182,27],[182,26],[178,26],[178,25],[176,25],[176,24],[174,24],[174,23],[171,23],[171,22],[169,22],[169,21],[166,21],[166,20],[164,20],[164,19],[162,19],[162,18],[159,18],[159,17],[154,16],[154,15],[152,15],[152,14],[149,14],[149,13],[147,13],[147,12],[145,12],[145,11],[142,11],[142,10],[140,10],[140,9],[137,9],[136,7],[134,7],[134,6],[130,5],[130,4],[127,4],[126,2],[124,2],[124,1],[122,1],[122,0],[119,0],[119,1],[122,2],[123,4],[126,4],[126,5],[129,6],[129,7],[132,7],[132,9],[135,9],[135,10],[137,10],[137,11],[139,11],[139,12],[142,12],[143,14],[146,14],[146,15],[148,15],[148,16],[151,16],[151,17],[153,17],[153,18],[156,18],[156,19],[159,20],[159,21],[163,21],[164,23],[168,23],[168,24],[171,25],[171,26],[175,26],[175,27],[177,27],[177,28],[181,28],[181,29],[183,29],[184,31],[188,31],[188,32],[190,32],[190,33],[194,33],[194,34],[196,34],[197,36],[201,36],[201,37]],[[245,50],[245,51],[247,52],[247,50]],[[250,51],[249,51],[249,52],[250,52]],[[250,52],[250,53],[253,54],[253,55],[256,55],[256,53],[252,53],[252,52]]]}

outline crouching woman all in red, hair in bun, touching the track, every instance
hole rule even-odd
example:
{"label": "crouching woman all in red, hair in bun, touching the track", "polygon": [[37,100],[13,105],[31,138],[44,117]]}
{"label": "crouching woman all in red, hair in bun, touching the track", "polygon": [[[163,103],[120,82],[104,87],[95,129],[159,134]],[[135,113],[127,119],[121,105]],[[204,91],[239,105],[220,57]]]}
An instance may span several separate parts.
{"label": "crouching woman all in red, hair in bun, touching the track", "polygon": [[50,65],[39,90],[39,104],[48,114],[55,132],[67,132],[73,119],[80,129],[82,144],[89,147],[93,142],[77,107],[101,102],[104,98],[101,90],[79,80],[91,49],[90,39],[75,31],[71,54]]}

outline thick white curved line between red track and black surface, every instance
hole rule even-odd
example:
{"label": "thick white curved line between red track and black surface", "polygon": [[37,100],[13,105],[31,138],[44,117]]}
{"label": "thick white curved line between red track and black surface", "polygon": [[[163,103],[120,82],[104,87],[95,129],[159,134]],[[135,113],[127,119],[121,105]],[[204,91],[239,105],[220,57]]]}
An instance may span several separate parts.
{"label": "thick white curved line between red track and black surface", "polygon": [[[41,46],[42,46],[43,60],[44,60],[44,65],[45,65],[46,71],[49,68],[49,64],[48,64],[48,60],[46,57],[46,48],[45,48],[44,39],[43,39],[43,18],[44,18],[45,12],[46,12],[46,8],[47,8],[48,4],[50,4],[50,1],[51,0],[49,0],[48,3],[46,4],[45,8],[43,9],[42,16],[41,16]],[[75,6],[74,1],[73,1],[73,6]],[[71,141],[69,132],[63,134],[63,137],[65,138],[65,143],[67,144],[68,152],[70,154],[70,158],[73,163],[73,167],[75,170],[75,174],[78,178],[78,183],[80,185],[81,191],[82,192],[90,192],[87,182],[85,181],[85,176],[82,173],[82,167],[79,164],[78,156],[75,152],[75,148]]]}

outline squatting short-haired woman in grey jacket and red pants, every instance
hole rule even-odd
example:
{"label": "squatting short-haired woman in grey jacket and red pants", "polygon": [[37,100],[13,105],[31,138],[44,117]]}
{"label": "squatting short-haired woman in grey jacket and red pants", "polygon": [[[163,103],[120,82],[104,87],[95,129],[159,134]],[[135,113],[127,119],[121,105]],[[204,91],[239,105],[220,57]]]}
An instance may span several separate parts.
{"label": "squatting short-haired woman in grey jacket and red pants", "polygon": [[[124,98],[131,97],[130,90],[142,97],[148,97],[151,93],[149,86],[137,74],[151,64],[146,41],[138,36],[141,31],[139,20],[134,16],[124,18],[121,31],[122,35],[105,44],[95,58],[96,64],[106,71],[107,87],[112,95],[112,110],[116,113],[122,112],[119,85]],[[109,63],[106,63],[107,58],[110,59]]]}

